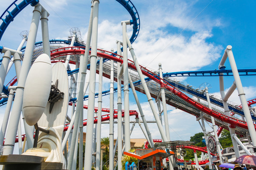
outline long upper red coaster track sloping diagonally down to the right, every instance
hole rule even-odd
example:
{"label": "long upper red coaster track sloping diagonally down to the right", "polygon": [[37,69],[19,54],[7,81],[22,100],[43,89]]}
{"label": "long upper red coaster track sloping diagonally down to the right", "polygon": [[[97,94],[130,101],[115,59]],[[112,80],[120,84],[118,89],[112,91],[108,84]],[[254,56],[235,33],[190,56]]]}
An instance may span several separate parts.
{"label": "long upper red coaster track sloping diagonally down to the right", "polygon": [[[78,49],[71,49],[69,50],[70,47],[67,48],[60,48],[60,49],[56,49],[51,51],[51,58],[57,58],[60,56],[64,56],[67,54],[84,54],[84,49],[81,49],[80,47],[75,47]],[[73,47],[74,48],[74,47]],[[56,52],[55,52],[56,51]],[[107,58],[107,59],[112,59],[116,62],[123,62],[121,58],[121,56],[118,56],[116,54],[116,57],[111,56],[110,54],[113,54],[109,51],[105,51],[105,50],[101,50],[104,53],[100,53],[97,52],[97,56],[99,57],[103,57],[103,58]],[[106,54],[105,52],[107,52],[108,54]],[[134,66],[134,62],[132,62],[131,60],[129,60],[128,63],[128,67],[137,70],[136,67]],[[198,108],[200,111],[203,111],[204,113],[209,114],[210,116],[215,117],[216,119],[219,119],[223,122],[227,122],[233,126],[239,126],[245,129],[248,129],[247,127],[247,123],[232,117],[228,117],[224,114],[218,113],[216,111],[212,111],[211,109],[205,107],[204,105],[201,105],[198,102],[195,102],[193,99],[191,99],[190,97],[186,96],[185,94],[183,94],[182,92],[180,92],[179,90],[177,90],[174,86],[170,85],[168,82],[166,82],[164,79],[161,79],[160,77],[158,77],[156,74],[154,74],[153,72],[147,70],[146,68],[144,68],[143,66],[140,66],[140,69],[142,71],[142,73],[149,77],[150,79],[154,80],[155,82],[157,82],[158,84],[160,84],[161,87],[166,88],[167,90],[171,91],[173,94],[175,94],[176,96],[179,96],[181,99],[185,100],[186,102],[188,102],[189,104],[193,105],[194,107]],[[161,82],[161,80],[163,80],[163,82]]]}

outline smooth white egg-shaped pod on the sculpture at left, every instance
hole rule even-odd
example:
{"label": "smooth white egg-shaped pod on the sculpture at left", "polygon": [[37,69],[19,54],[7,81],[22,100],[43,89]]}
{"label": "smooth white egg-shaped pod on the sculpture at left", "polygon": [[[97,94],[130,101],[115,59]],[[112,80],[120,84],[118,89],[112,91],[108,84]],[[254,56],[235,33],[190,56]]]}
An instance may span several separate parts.
{"label": "smooth white egg-shaped pod on the sculpture at left", "polygon": [[47,54],[41,54],[31,66],[24,87],[23,111],[28,125],[35,125],[41,118],[48,102],[51,84],[51,60]]}

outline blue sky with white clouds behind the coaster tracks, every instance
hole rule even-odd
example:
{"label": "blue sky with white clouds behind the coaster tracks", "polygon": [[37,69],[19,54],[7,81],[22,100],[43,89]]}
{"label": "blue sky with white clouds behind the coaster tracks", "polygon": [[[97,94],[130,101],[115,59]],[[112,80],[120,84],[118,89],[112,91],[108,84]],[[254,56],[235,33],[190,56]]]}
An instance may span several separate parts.
{"label": "blue sky with white clouds behind the coaster tracks", "polygon": [[[0,13],[11,1],[1,0]],[[21,0],[18,0],[21,2]],[[86,40],[90,17],[90,0],[40,0],[49,11],[50,39],[67,40],[71,27],[81,31],[81,38]],[[162,63],[163,72],[202,71],[218,69],[219,62],[227,45],[232,51],[238,69],[256,68],[256,2],[221,1],[221,0],[132,0],[140,16],[140,32],[132,44],[138,62],[149,70],[157,70]],[[9,25],[2,39],[1,46],[17,48],[21,42],[20,32],[29,30],[32,18],[32,6],[27,6]],[[121,21],[131,20],[128,11],[115,0],[100,0],[98,47],[116,51],[116,40],[122,41]],[[132,26],[127,26],[131,36]],[[36,41],[41,41],[41,26]],[[3,54],[0,54],[2,57]],[[131,55],[128,56],[131,59]],[[228,60],[226,69],[231,69]],[[89,75],[89,74],[87,74]],[[15,76],[12,68],[6,77],[7,84]],[[98,78],[98,77],[97,77]],[[218,77],[177,77],[190,85],[199,87],[207,82],[212,88],[209,93],[220,96]],[[234,81],[233,77],[224,77],[225,91]],[[255,76],[241,77],[247,100],[256,98]],[[104,88],[109,88],[109,80],[104,79]],[[144,94],[137,93],[147,120],[154,120]],[[116,96],[115,96],[116,97]],[[237,91],[230,100],[239,103]],[[86,102],[85,102],[86,103]],[[116,103],[116,98],[115,98]],[[96,99],[97,105],[97,99]],[[109,108],[109,96],[103,97],[103,108]],[[3,117],[5,106],[0,108]],[[115,109],[116,109],[115,104]],[[157,109],[157,108],[156,108]],[[130,110],[138,110],[133,95],[130,93]],[[189,140],[190,136],[201,132],[195,116],[172,106],[167,106],[171,140]],[[86,117],[86,111],[84,111]],[[134,120],[134,117],[130,118]],[[117,135],[115,125],[114,137]],[[154,139],[160,139],[151,124]],[[210,130],[207,127],[207,130]],[[86,132],[86,127],[84,127]],[[102,137],[108,136],[109,126],[102,125]],[[134,127],[131,138],[143,138],[140,127]]]}

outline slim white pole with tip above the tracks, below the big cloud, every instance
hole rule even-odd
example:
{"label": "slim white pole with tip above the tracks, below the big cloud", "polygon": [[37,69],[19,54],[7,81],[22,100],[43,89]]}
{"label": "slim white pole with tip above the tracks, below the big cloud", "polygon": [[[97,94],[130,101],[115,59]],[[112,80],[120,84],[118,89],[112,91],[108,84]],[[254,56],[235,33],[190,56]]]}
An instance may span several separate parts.
{"label": "slim white pole with tip above the tracks, below the big cloud", "polygon": [[[163,71],[162,71],[162,65],[161,63],[158,64],[159,66],[159,75],[160,78],[163,79]],[[161,82],[163,82],[163,80],[161,80]],[[168,141],[170,141],[170,131],[169,131],[169,123],[168,123],[168,116],[167,116],[167,108],[166,108],[166,97],[165,97],[165,92],[164,92],[164,87],[161,87],[161,97],[162,97],[162,104],[163,104],[163,118],[164,118],[164,126],[165,126],[165,130],[166,130],[166,137],[168,139]]]}

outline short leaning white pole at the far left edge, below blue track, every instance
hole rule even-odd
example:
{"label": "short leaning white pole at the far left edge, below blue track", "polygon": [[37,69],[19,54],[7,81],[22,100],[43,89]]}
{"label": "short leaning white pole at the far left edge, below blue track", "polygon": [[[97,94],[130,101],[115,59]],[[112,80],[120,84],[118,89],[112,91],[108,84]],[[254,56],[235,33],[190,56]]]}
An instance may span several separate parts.
{"label": "short leaning white pole at the far left edge, below blue track", "polygon": [[7,71],[10,59],[11,59],[11,52],[6,51],[3,55],[3,60],[2,60],[1,67],[0,67],[0,92],[1,93],[3,90],[3,83],[6,78],[6,71]]}

